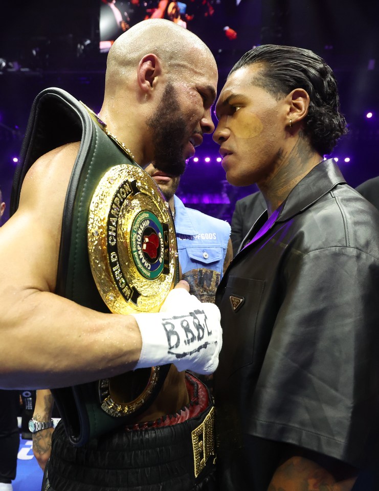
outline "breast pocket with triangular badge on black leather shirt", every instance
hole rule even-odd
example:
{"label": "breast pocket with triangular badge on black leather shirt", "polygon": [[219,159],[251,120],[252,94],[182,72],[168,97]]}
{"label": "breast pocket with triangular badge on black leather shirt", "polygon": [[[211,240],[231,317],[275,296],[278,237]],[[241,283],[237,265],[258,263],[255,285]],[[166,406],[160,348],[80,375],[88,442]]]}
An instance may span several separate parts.
{"label": "breast pocket with triangular badge on black leather shirt", "polygon": [[254,362],[259,305],[265,282],[230,276],[220,307],[222,350],[220,364],[232,375]]}

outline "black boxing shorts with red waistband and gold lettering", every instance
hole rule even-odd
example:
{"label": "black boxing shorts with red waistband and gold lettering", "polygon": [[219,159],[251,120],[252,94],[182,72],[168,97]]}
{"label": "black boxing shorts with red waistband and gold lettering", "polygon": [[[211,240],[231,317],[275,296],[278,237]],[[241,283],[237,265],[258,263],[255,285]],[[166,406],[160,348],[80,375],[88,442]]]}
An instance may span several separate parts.
{"label": "black boxing shorts with red waistband and gold lettering", "polygon": [[186,373],[190,402],[176,414],[117,429],[83,447],[53,433],[42,491],[214,491],[214,407]]}

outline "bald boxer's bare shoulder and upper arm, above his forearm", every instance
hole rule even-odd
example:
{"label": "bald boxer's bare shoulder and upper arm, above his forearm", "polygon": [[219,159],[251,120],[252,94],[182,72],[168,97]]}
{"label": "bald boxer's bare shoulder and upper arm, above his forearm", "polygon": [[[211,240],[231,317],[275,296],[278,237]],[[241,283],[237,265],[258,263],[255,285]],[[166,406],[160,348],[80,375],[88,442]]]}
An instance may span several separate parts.
{"label": "bald boxer's bare shoulder and upper arm, above his forearm", "polygon": [[19,207],[0,229],[3,284],[8,278],[16,288],[54,292],[64,199],[78,150],[79,143],[56,148],[25,176]]}

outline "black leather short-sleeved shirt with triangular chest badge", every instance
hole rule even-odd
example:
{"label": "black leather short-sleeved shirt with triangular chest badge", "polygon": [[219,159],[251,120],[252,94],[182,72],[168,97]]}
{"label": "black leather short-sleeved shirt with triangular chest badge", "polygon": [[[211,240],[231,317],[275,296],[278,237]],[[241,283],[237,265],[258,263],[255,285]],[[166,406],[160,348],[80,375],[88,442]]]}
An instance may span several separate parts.
{"label": "black leather short-sleeved shirt with triangular chest badge", "polygon": [[216,304],[220,489],[266,491],[274,442],[361,469],[378,461],[379,213],[335,162],[311,170],[241,250]]}

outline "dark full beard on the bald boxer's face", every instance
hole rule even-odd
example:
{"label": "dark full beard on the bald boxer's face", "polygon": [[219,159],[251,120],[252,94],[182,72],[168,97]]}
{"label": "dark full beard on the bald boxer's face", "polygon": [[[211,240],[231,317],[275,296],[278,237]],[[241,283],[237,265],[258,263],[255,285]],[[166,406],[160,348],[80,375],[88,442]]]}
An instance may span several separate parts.
{"label": "dark full beard on the bald boxer's face", "polygon": [[170,175],[182,175],[186,170],[183,141],[188,132],[175,87],[168,82],[157,114],[147,122],[154,145],[153,165]]}

